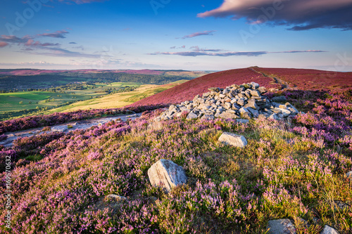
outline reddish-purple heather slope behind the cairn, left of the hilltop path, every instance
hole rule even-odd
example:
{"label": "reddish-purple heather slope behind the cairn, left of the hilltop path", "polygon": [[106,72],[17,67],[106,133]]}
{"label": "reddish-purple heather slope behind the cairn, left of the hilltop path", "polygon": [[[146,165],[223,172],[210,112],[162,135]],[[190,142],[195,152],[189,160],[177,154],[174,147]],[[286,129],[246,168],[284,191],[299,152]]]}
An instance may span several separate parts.
{"label": "reddish-purple heather slope behind the cairn, left of the hilltop path", "polygon": [[262,74],[253,71],[251,68],[234,69],[206,74],[203,77],[192,79],[189,82],[163,91],[162,93],[139,100],[127,107],[156,105],[159,103],[181,103],[184,100],[193,99],[197,94],[206,93],[210,87],[225,87],[232,84],[243,84],[248,82],[256,82],[260,84],[260,86],[265,86],[267,89],[279,88],[279,85],[275,84],[274,79],[264,77]]}

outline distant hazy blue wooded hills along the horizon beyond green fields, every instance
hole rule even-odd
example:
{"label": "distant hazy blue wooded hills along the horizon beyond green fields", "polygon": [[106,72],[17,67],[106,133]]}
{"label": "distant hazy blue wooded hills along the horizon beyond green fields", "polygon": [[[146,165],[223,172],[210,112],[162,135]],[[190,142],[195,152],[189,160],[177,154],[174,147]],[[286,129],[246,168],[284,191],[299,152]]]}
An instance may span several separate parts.
{"label": "distant hazy blue wooded hills along the horizon beyond green fields", "polygon": [[0,70],[0,91],[48,89],[76,82],[169,84],[209,72],[186,70]]}

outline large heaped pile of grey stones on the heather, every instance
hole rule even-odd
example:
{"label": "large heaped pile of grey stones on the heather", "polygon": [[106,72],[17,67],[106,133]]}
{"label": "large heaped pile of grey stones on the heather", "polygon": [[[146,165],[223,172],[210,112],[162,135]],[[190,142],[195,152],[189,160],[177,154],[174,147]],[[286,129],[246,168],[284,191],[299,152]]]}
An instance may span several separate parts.
{"label": "large heaped pile of grey stones on the heather", "polygon": [[[210,88],[208,93],[195,96],[179,105],[170,105],[158,120],[168,120],[181,115],[187,119],[251,119],[260,116],[270,119],[283,119],[298,114],[296,108],[284,96],[270,100],[264,94],[267,89],[255,82],[227,86],[225,89]],[[285,103],[285,104],[280,104]]]}

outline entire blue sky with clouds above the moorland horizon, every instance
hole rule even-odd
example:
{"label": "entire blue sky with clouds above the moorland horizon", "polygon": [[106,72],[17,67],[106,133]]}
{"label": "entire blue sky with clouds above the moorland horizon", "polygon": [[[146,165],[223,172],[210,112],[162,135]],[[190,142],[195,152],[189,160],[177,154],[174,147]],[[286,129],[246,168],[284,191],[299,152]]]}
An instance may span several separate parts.
{"label": "entire blue sky with clouds above the moorland horizon", "polygon": [[0,68],[352,71],[352,0],[0,4]]}

